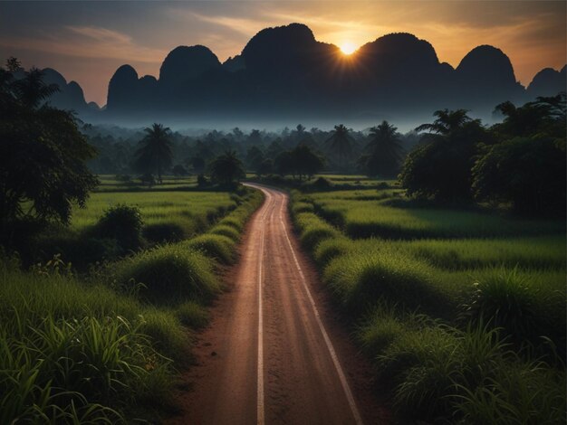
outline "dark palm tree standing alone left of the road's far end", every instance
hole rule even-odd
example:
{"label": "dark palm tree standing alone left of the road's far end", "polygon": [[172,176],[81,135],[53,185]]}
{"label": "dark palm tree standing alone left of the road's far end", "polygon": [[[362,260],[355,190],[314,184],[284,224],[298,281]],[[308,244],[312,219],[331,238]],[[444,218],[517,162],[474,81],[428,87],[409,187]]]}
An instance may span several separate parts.
{"label": "dark palm tree standing alone left of the road's far end", "polygon": [[171,166],[173,153],[171,152],[171,130],[161,124],[154,123],[150,128],[144,128],[146,136],[139,141],[136,152],[136,167],[140,172],[158,174],[159,183],[164,170]]}

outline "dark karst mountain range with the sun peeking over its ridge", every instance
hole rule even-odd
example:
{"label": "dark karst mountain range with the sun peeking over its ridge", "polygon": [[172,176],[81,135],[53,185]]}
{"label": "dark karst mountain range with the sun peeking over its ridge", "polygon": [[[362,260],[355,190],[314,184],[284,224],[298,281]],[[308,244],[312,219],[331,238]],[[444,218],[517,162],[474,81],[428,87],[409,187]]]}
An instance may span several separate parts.
{"label": "dark karst mountain range with the sun peeking over its ridge", "polygon": [[543,70],[525,90],[505,52],[481,45],[458,66],[409,33],[391,33],[350,56],[319,42],[304,24],[265,28],[224,63],[202,45],[179,46],[159,78],[121,66],[101,119],[289,123],[308,118],[367,121],[430,118],[443,108],[490,118],[505,100],[524,102],[564,88],[565,70]]}

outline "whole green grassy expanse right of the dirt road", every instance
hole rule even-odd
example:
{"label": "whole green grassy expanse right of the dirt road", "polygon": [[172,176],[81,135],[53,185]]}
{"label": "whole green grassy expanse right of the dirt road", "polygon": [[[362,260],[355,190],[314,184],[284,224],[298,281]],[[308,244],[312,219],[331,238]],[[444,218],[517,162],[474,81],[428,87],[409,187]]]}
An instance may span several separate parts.
{"label": "whole green grassy expanse right of the dirt road", "polygon": [[291,209],[400,417],[564,420],[564,222],[420,206],[395,186],[293,192]]}

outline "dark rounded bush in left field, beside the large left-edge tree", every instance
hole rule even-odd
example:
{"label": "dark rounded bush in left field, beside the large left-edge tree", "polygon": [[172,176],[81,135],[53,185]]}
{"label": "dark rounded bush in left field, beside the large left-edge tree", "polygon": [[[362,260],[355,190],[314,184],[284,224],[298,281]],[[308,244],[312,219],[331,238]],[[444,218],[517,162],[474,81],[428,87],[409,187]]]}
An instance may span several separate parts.
{"label": "dark rounded bush in left field, beside the large left-edge tree", "polygon": [[103,213],[94,232],[101,238],[117,240],[124,250],[134,250],[140,245],[142,225],[138,207],[118,204]]}

